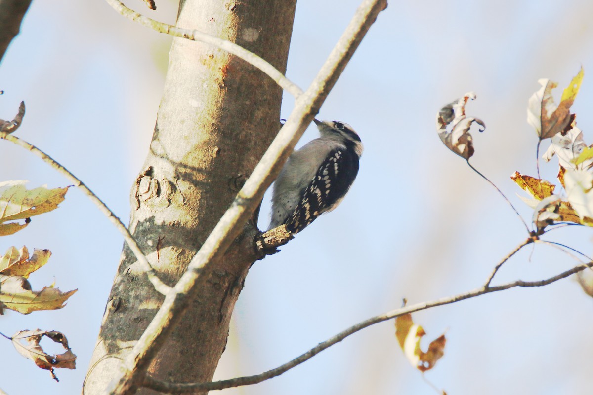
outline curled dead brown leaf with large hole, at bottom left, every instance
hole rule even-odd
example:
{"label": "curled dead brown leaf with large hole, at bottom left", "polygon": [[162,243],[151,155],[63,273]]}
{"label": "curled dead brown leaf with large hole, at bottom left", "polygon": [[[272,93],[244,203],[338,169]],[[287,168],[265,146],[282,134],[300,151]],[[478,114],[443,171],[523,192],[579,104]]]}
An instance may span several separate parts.
{"label": "curled dead brown leaf with large hole, at bottom left", "polygon": [[[46,336],[56,343],[62,344],[62,347],[66,350],[62,354],[50,355],[47,354],[39,342]],[[49,370],[52,373],[54,380],[59,381],[58,377],[54,372],[54,368],[76,368],[76,355],[68,346],[68,339],[57,331],[42,331],[36,329],[35,331],[20,331],[12,335],[12,345],[17,351],[23,355],[23,357],[30,359],[35,362],[37,367],[45,370]]]}

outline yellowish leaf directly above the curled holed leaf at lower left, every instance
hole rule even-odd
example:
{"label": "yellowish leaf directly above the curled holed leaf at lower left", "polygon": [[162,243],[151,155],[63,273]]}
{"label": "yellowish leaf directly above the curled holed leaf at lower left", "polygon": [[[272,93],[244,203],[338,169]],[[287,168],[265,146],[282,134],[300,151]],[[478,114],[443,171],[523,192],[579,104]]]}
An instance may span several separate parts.
{"label": "yellowish leaf directly above the curled holed leaf at lower left", "polygon": [[53,287],[31,291],[31,284],[24,277],[0,275],[0,305],[23,314],[61,309],[76,291],[62,292]]}

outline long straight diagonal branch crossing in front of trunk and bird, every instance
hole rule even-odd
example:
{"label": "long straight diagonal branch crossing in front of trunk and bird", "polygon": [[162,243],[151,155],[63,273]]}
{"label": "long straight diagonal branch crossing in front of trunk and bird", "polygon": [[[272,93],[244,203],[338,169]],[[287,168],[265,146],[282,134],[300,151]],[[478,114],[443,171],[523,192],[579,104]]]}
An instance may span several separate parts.
{"label": "long straight diagonal branch crossing in front of trunk and bird", "polygon": [[280,167],[288,158],[305,128],[313,121],[321,104],[342,74],[346,64],[361,43],[379,12],[387,7],[387,0],[364,0],[350,24],[331,51],[307,92],[295,101],[294,109],[270,144],[262,160],[243,185],[231,207],[224,213],[202,247],[190,261],[186,273],[175,285],[173,292],[165,296],[160,309],[138,339],[132,351],[122,362],[120,372],[110,384],[110,393],[133,394],[141,374],[154,355],[164,345],[165,339],[183,316],[187,300],[195,297],[212,263],[219,260],[237,237],[243,224],[262,200],[263,193],[278,176]]}

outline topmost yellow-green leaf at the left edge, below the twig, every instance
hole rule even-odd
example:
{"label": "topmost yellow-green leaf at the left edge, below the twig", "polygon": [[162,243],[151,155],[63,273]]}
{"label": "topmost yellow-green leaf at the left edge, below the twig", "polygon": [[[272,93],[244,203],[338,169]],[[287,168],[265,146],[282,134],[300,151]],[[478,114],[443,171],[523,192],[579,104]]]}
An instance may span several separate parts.
{"label": "topmost yellow-green leaf at the left edge, below the twig", "polygon": [[23,181],[0,183],[0,235],[8,235],[23,229],[25,224],[2,224],[2,222],[17,219],[28,220],[31,216],[39,215],[56,209],[62,203],[68,187],[47,189],[38,187],[27,190]]}

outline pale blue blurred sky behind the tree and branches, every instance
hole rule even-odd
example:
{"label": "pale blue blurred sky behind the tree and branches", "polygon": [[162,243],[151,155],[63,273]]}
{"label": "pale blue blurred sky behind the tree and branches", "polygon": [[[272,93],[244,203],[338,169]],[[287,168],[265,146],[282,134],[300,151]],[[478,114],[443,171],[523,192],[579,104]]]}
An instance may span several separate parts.
{"label": "pale blue blurred sky behind the tree and branches", "polygon": [[[51,4],[50,4],[51,3]],[[144,12],[141,2],[129,2]],[[151,17],[172,22],[171,2]],[[288,77],[306,88],[358,1],[299,0]],[[490,177],[524,218],[515,170],[534,174],[537,139],[525,121],[543,77],[566,86],[585,69],[573,105],[593,142],[593,4],[570,1],[391,1],[321,108],[321,119],[352,125],[365,153],[342,205],[251,268],[232,320],[217,378],[256,374],[291,360],[369,316],[480,286],[519,244],[525,229],[496,191],[450,153],[436,134],[438,109],[468,90],[474,166]],[[0,118],[27,115],[18,135],[56,158],[127,222],[129,191],[141,170],[164,75],[155,54],[168,38],[117,15],[100,0],[34,1],[21,34],[0,65]],[[159,64],[166,64],[160,59]],[[558,89],[557,95],[560,95]],[[282,117],[291,111],[286,98]],[[316,136],[314,127],[302,141]],[[1,180],[65,186],[66,180],[24,150],[0,141]],[[302,143],[301,143],[302,144]],[[547,147],[543,144],[543,150]],[[542,151],[543,151],[542,150]],[[556,164],[542,165],[553,179]],[[267,225],[269,197],[262,207]],[[551,234],[591,253],[591,229]],[[97,338],[122,240],[76,190],[53,213],[4,237],[9,245],[49,248],[34,288],[56,280],[78,288],[62,310],[8,312],[0,331],[65,332],[78,369],[60,383],[0,340],[0,388],[9,395],[79,392]],[[533,254],[532,254],[533,251]],[[537,280],[573,265],[545,246],[525,248],[495,283]],[[449,394],[589,394],[593,301],[573,280],[517,289],[417,313],[429,338],[447,331],[445,357],[427,377]],[[224,394],[433,394],[404,359],[393,322],[347,338],[273,380]]]}

